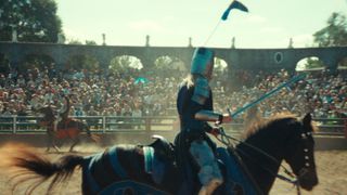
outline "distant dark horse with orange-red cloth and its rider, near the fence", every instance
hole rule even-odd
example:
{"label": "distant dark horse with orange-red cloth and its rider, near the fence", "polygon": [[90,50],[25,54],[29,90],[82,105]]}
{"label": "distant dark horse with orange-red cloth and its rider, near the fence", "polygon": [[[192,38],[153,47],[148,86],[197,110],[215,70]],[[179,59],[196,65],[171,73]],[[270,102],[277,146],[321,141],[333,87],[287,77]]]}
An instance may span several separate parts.
{"label": "distant dark horse with orange-red cloth and its rider, near the fence", "polygon": [[56,120],[56,117],[51,105],[35,109],[36,113],[43,114],[42,119],[40,119],[38,123],[47,128],[47,151],[50,151],[51,146],[53,146],[55,151],[59,151],[59,147],[55,144],[56,139],[70,139],[73,141],[73,144],[69,147],[69,152],[74,151],[74,147],[80,142],[80,133],[82,132],[82,130],[86,130],[87,135],[90,136],[93,141],[98,141],[98,136],[91,135],[90,129],[87,123],[68,117],[70,107],[69,99],[65,96],[65,101],[66,109],[62,114],[60,114],[61,121],[57,122],[56,130],[54,130],[54,121]]}

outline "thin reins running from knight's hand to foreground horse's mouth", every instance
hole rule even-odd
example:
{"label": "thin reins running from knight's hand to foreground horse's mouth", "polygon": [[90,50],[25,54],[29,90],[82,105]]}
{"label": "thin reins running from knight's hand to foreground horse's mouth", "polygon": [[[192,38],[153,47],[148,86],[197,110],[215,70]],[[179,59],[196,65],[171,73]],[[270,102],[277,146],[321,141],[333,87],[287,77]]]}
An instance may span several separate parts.
{"label": "thin reins running from knight's hand to foreground horse's mouth", "polygon": [[[299,176],[295,176],[292,171],[290,171],[286,167],[284,167],[279,160],[277,160],[273,156],[269,155],[268,153],[266,153],[265,151],[252,145],[252,144],[248,144],[242,140],[239,140],[239,139],[235,139],[233,136],[230,136],[228,135],[224,130],[220,127],[220,136],[221,138],[218,138],[216,136],[216,139],[218,141],[220,141],[222,144],[224,144],[226,146],[232,146],[231,144],[231,141],[230,140],[233,140],[237,143],[242,143],[246,146],[248,146],[249,148],[260,153],[261,155],[266,156],[267,158],[271,159],[273,162],[275,162],[277,165],[280,165],[280,167],[284,170],[284,172],[290,176],[291,178],[287,178],[285,176],[282,176],[282,174],[279,174],[279,173],[274,173],[273,171],[271,171],[270,169],[264,167],[264,166],[260,166],[262,169],[265,169],[266,171],[268,171],[270,174],[274,176],[275,178],[279,178],[280,180],[282,181],[285,181],[287,183],[291,183],[293,185],[296,186],[296,191],[297,191],[297,194],[300,195],[301,192],[300,192],[300,186],[299,186],[299,178],[303,177],[304,174],[307,173],[307,169],[306,168],[301,168],[300,171],[299,171]],[[301,138],[305,138],[305,135],[309,135],[309,134],[301,134]],[[233,146],[232,146],[233,147]],[[234,147],[233,147],[234,148]],[[235,148],[236,150],[236,148]],[[250,158],[247,154],[245,154],[244,152],[237,150],[237,152],[241,152],[243,153],[246,157],[248,157],[250,160],[255,161],[253,158]],[[308,148],[305,148],[304,152],[308,152]],[[305,159],[308,159],[307,156],[305,156]],[[306,166],[309,166],[309,164],[307,162]],[[293,179],[294,178],[294,179]]]}

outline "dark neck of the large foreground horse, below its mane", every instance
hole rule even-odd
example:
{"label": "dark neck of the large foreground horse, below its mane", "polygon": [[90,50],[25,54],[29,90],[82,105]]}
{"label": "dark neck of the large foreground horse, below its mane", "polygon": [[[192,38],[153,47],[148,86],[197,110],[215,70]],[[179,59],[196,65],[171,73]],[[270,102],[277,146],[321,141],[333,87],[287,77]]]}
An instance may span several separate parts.
{"label": "dark neck of the large foreground horse, below its mane", "polygon": [[[271,138],[254,139],[249,142],[246,142],[247,144],[253,145],[255,148],[258,148],[261,152],[255,148],[250,148],[249,146],[246,146],[244,144],[237,145],[239,154],[243,162],[265,194],[269,193],[275,180],[275,174],[279,171],[280,165],[277,161],[282,161],[281,154],[275,148],[275,145],[273,145],[274,142],[275,140],[272,140]],[[266,154],[262,154],[262,152],[273,157],[274,160],[271,159],[271,157],[266,156]]]}

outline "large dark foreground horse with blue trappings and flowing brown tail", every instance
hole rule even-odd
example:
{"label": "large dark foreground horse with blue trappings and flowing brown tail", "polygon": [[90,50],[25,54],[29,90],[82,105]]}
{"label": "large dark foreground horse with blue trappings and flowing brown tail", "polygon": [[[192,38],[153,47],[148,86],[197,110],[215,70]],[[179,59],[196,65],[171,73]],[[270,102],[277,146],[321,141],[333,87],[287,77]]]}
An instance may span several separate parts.
{"label": "large dark foreground horse with blue trappings and flowing brown tail", "polygon": [[[278,116],[250,128],[235,147],[218,147],[224,182],[214,194],[268,194],[275,178],[295,184],[298,193],[300,187],[311,191],[318,184],[313,128],[310,114],[303,119]],[[21,170],[16,176],[20,182],[39,179],[27,188],[29,193],[52,178],[50,192],[80,167],[82,194],[187,194],[180,191],[184,180],[175,162],[174,145],[163,138],[147,146],[116,145],[87,157],[65,155],[54,162],[25,148],[12,154],[15,156],[7,160]],[[282,160],[293,172],[281,165]],[[288,177],[279,174],[280,168]]]}

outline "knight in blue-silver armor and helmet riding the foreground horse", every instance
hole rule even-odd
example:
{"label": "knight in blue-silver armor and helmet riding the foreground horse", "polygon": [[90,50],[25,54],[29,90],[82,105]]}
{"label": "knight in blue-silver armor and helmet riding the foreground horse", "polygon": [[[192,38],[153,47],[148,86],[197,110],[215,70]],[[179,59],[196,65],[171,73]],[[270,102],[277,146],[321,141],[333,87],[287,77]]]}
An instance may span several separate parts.
{"label": "knight in blue-silver armor and helmet riding the foreground horse", "polygon": [[[177,98],[177,109],[180,117],[180,133],[176,136],[178,146],[178,164],[185,172],[185,180],[191,182],[192,158],[197,167],[197,178],[202,184],[200,195],[209,195],[223,182],[221,171],[215,156],[216,144],[207,133],[217,135],[218,128],[213,122],[230,122],[227,114],[214,112],[213,93],[209,81],[214,69],[214,51],[197,48],[191,63],[191,74],[182,81]],[[207,133],[206,133],[207,132]],[[192,172],[191,172],[192,173]],[[190,179],[191,178],[191,179]],[[181,192],[180,194],[192,194]]]}

